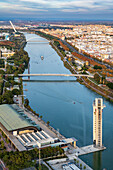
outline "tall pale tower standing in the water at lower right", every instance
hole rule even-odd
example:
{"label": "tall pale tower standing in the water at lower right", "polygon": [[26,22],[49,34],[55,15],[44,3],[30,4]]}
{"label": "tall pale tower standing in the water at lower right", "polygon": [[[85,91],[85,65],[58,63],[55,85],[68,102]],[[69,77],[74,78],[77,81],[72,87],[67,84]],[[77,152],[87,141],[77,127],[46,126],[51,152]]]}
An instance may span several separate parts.
{"label": "tall pale tower standing in the water at lower right", "polygon": [[93,144],[96,147],[102,147],[102,98],[96,98],[93,102]]}

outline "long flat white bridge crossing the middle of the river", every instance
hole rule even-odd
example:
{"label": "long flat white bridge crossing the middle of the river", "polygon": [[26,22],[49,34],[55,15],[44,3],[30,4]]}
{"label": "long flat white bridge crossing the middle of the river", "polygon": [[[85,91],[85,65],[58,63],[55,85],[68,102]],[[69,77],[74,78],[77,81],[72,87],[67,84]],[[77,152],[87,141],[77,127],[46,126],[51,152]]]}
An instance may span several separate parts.
{"label": "long flat white bridge crossing the middle of the river", "polygon": [[[14,74],[5,74],[5,76],[14,76]],[[87,75],[87,74],[18,74],[18,77],[35,77],[35,76],[58,76],[58,77],[91,77],[93,78],[93,75]]]}

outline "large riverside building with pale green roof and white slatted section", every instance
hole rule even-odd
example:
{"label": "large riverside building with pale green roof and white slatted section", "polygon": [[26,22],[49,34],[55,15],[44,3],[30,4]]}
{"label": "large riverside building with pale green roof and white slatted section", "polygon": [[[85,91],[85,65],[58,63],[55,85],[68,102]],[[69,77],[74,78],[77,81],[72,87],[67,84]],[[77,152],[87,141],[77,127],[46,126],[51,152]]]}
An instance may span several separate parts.
{"label": "large riverside building with pale green roof and white slatted section", "polygon": [[0,129],[19,151],[47,146],[60,146],[67,149],[68,144],[76,147],[75,138],[59,140],[51,137],[16,104],[0,105],[0,122]]}

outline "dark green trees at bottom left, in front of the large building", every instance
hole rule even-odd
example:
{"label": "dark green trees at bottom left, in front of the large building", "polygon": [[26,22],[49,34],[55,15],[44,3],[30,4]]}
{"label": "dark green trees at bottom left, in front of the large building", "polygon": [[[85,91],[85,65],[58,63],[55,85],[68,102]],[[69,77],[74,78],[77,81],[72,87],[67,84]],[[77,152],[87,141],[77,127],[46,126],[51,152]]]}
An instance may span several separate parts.
{"label": "dark green trees at bottom left, in front of the large building", "polygon": [[[40,151],[41,158],[48,158],[52,156],[64,154],[60,147],[47,147]],[[23,169],[35,166],[36,159],[39,158],[39,150],[37,148],[30,151],[23,152],[0,152],[0,158],[4,161],[7,168],[11,170]]]}

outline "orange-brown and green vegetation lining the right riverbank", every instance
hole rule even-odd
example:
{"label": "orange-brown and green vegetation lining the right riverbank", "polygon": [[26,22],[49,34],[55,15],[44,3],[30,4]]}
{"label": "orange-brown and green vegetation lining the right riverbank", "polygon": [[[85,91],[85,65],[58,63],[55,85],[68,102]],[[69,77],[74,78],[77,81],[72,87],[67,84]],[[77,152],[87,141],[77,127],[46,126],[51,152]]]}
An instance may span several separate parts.
{"label": "orange-brown and green vegetation lining the right riverbank", "polygon": [[[54,50],[58,53],[58,55],[61,57],[61,60],[64,63],[64,66],[69,69],[71,71],[72,74],[76,74],[77,72],[75,71],[75,68],[73,69],[73,65],[74,63],[72,62],[72,65],[65,59],[66,54],[65,51],[71,51],[60,39],[58,39],[57,37],[54,37],[52,35],[43,33],[41,31],[35,31],[35,34],[46,38],[47,40],[50,40],[50,45],[52,46],[52,48],[54,48]],[[76,47],[75,47],[76,48]],[[72,54],[76,57],[81,59],[82,61],[86,61],[88,60],[87,58],[85,58],[82,54],[78,54],[77,52],[72,52]],[[106,69],[106,66],[102,65],[102,64],[98,64],[96,61],[92,61],[91,59],[89,59],[89,61],[91,61],[94,65],[95,71],[100,72],[101,69]],[[101,68],[100,68],[101,67]],[[87,68],[87,67],[86,67]],[[99,69],[98,69],[99,68]],[[97,73],[96,72],[96,73]],[[84,69],[84,71],[82,72],[83,74],[86,74],[86,70]],[[104,77],[105,75],[103,75]],[[102,85],[105,84],[105,78],[103,78],[102,76],[99,76],[99,81],[102,81]],[[92,91],[98,93],[99,95],[105,97],[108,101],[113,102],[113,91],[111,91],[108,88],[104,88],[99,86],[99,83],[95,83],[94,81],[90,80],[89,78],[77,78],[77,81],[80,84],[85,85],[87,88],[91,89]],[[104,83],[103,83],[104,82]],[[112,87],[112,85],[110,83],[107,83],[109,87]],[[111,88],[112,89],[112,88]]]}

